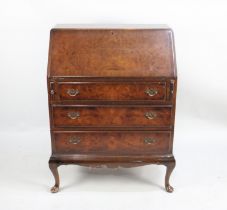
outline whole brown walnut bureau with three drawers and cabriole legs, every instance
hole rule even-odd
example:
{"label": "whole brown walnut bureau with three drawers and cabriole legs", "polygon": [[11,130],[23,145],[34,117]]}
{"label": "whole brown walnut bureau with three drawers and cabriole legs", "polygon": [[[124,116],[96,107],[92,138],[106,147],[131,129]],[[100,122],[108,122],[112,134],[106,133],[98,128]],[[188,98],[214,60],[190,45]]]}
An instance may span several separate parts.
{"label": "whole brown walnut bureau with three drawers and cabriole legs", "polygon": [[166,166],[170,174],[177,73],[166,26],[74,26],[51,30],[48,96],[52,155],[58,166]]}

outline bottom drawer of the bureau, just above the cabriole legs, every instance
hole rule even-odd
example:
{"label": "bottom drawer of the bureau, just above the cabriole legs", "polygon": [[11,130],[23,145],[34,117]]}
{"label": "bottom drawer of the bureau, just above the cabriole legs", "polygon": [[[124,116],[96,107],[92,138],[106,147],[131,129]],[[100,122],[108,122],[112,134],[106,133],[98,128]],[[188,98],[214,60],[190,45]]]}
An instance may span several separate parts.
{"label": "bottom drawer of the bureau, just above the cabriole legs", "polygon": [[170,131],[59,131],[53,142],[59,154],[163,155],[172,150]]}

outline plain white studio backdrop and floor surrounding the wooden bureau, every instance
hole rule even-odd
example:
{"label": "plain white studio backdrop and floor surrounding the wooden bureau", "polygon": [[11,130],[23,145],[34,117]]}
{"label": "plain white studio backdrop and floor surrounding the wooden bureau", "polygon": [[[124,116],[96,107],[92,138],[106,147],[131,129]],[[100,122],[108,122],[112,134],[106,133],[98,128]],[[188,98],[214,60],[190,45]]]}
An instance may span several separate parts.
{"label": "plain white studio backdrop and floor surrounding the wooden bureau", "polygon": [[[46,69],[55,24],[168,24],[178,95],[171,176],[165,168],[60,167],[51,194]],[[0,1],[0,209],[227,209],[227,1]]]}

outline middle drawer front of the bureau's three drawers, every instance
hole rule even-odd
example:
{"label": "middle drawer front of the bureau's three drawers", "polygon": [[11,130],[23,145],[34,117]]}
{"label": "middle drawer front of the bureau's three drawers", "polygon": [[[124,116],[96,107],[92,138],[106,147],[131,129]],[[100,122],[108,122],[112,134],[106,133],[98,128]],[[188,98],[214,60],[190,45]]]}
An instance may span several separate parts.
{"label": "middle drawer front of the bureau's three drawers", "polygon": [[170,126],[171,107],[53,106],[55,127]]}

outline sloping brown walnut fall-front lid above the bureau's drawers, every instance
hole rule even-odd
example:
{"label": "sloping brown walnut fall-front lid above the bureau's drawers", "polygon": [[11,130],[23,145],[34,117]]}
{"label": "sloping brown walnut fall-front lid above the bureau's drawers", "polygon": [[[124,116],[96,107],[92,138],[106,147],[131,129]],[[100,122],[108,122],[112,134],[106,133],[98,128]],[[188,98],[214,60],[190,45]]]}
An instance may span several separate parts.
{"label": "sloping brown walnut fall-front lid above the bureau's drawers", "polygon": [[53,29],[51,77],[174,77],[170,29]]}

